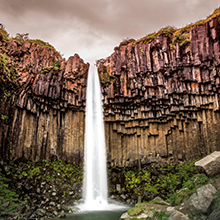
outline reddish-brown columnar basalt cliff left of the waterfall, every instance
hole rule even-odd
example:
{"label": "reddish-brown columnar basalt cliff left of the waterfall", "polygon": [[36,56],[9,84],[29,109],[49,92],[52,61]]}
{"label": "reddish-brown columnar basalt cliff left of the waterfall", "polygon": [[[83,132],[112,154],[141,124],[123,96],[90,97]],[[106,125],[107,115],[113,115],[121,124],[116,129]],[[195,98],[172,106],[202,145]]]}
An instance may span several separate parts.
{"label": "reddish-brown columnar basalt cliff left of the waterfall", "polygon": [[0,156],[82,163],[89,64],[0,36]]}

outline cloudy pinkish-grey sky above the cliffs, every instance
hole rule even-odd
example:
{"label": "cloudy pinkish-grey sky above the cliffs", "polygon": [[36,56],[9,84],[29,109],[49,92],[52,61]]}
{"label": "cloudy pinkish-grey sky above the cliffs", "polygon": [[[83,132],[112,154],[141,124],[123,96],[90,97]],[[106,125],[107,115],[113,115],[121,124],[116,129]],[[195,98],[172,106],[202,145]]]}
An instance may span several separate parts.
{"label": "cloudy pinkish-grey sky above the cliffs", "polygon": [[11,36],[29,33],[64,57],[106,58],[126,38],[206,18],[219,0],[0,0],[0,23]]}

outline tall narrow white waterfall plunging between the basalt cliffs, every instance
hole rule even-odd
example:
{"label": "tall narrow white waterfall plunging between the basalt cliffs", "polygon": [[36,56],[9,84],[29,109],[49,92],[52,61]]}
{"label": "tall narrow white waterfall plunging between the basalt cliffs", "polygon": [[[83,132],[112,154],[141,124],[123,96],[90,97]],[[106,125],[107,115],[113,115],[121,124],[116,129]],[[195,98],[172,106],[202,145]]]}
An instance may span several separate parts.
{"label": "tall narrow white waterfall plunging between the basalt cliffs", "polygon": [[95,66],[90,67],[86,91],[83,209],[103,210],[108,206],[106,146],[100,82]]}

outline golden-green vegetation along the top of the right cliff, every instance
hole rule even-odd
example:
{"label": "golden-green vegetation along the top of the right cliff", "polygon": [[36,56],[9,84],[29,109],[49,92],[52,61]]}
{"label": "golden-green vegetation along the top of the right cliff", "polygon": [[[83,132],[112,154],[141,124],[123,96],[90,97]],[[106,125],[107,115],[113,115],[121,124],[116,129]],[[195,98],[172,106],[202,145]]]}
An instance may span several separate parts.
{"label": "golden-green vegetation along the top of the right cliff", "polygon": [[139,39],[139,40],[134,40],[134,39],[126,39],[123,40],[118,47],[115,47],[115,50],[119,49],[123,45],[128,45],[129,43],[133,42],[133,46],[135,46],[138,43],[144,43],[148,44],[150,42],[156,41],[157,36],[165,36],[168,37],[171,41],[171,46],[175,48],[175,44],[179,43],[180,46],[188,46],[190,44],[190,28],[193,26],[203,26],[205,25],[208,21],[218,18],[220,21],[220,7],[217,8],[211,15],[209,15],[206,19],[197,21],[194,24],[189,24],[183,28],[176,29],[173,26],[166,26],[161,28],[159,31],[150,33],[147,36]]}

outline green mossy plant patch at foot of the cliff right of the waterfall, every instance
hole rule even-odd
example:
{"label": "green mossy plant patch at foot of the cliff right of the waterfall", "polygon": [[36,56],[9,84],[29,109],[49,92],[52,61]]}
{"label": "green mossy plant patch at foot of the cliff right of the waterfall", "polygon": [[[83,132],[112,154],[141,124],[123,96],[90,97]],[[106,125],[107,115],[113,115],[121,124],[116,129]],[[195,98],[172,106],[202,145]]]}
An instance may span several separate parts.
{"label": "green mossy plant patch at foot of the cliff right of the waterfall", "polygon": [[[158,173],[152,179],[152,172]],[[151,167],[141,171],[125,172],[126,190],[133,199],[138,195],[145,195],[144,200],[150,201],[160,195],[167,199],[168,195],[180,189],[184,182],[197,173],[194,162],[170,164],[167,167]]]}

